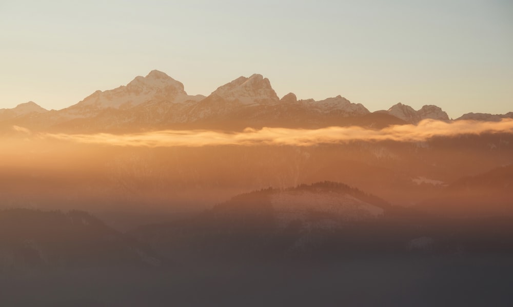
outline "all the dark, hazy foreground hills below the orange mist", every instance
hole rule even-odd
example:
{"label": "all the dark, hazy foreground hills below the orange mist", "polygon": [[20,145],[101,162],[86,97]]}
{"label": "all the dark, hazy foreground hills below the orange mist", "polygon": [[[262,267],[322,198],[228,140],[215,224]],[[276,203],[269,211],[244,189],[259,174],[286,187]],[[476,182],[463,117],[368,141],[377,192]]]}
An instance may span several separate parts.
{"label": "all the dark, hazy foreground hills below the orange mist", "polygon": [[399,209],[341,183],[266,189],[127,234],[0,211],[2,306],[510,306],[513,220]]}

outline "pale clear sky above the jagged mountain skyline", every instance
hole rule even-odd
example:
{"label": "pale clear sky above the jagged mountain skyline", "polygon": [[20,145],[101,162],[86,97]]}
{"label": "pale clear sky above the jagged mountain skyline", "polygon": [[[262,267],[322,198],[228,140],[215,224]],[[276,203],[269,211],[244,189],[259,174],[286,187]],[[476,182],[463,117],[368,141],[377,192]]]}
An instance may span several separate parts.
{"label": "pale clear sky above the jagged mountain skyline", "polygon": [[208,95],[260,73],[278,96],[370,111],[513,111],[513,2],[0,0],[0,108],[76,104],[163,71]]}

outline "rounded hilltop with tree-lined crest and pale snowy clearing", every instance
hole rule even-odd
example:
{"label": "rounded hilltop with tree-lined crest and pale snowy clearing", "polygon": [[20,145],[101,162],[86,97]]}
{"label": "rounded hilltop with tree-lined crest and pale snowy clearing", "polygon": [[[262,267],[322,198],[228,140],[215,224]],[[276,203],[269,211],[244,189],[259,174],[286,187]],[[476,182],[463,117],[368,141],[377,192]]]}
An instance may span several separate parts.
{"label": "rounded hilltop with tree-lined crest and pale snowy clearing", "polygon": [[267,212],[272,215],[273,227],[278,229],[286,229],[292,223],[300,223],[310,229],[328,229],[348,221],[382,217],[384,208],[389,206],[384,200],[358,189],[324,181],[285,190],[264,189],[238,195],[214,207],[212,214],[216,219],[238,222],[240,218]]}

